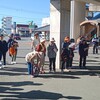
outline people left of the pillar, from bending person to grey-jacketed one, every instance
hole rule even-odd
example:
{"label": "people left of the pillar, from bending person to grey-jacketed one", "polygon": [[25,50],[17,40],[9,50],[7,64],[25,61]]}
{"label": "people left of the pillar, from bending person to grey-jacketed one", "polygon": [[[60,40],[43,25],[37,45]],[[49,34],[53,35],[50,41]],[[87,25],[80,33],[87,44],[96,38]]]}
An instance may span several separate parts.
{"label": "people left of the pillar, from bending person to grey-jacketed one", "polygon": [[[47,56],[49,58],[49,70],[50,72],[55,72],[56,71],[56,55],[58,48],[55,44],[55,39],[52,38],[46,47],[46,40],[45,39],[40,39],[39,34],[35,33],[34,34],[34,39],[32,40],[32,52],[29,52],[25,60],[28,65],[28,74],[32,75],[34,77],[33,73],[33,67],[37,66],[39,68],[39,73],[45,73],[44,71],[44,63],[45,63],[45,56],[47,53]],[[32,56],[32,54],[34,56]]]}

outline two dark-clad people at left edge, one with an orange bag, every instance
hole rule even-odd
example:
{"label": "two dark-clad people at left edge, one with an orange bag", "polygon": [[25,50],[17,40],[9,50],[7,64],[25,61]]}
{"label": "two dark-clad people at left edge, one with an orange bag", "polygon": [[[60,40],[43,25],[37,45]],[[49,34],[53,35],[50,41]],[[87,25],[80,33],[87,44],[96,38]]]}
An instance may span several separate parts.
{"label": "two dark-clad people at left edge, one with an orange bag", "polygon": [[[18,42],[14,40],[14,34],[9,35],[8,41],[4,40],[4,35],[0,34],[0,69],[6,67],[6,54],[11,57],[11,64],[16,64]],[[2,61],[3,58],[3,61]]]}

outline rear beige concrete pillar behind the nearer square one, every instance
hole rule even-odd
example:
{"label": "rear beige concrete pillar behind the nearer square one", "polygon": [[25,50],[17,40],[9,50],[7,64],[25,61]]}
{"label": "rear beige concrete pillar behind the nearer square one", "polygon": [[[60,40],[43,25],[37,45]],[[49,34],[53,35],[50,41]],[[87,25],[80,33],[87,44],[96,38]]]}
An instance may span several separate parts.
{"label": "rear beige concrete pillar behind the nearer square one", "polygon": [[75,40],[80,35],[80,23],[85,20],[85,2],[71,0],[70,38]]}

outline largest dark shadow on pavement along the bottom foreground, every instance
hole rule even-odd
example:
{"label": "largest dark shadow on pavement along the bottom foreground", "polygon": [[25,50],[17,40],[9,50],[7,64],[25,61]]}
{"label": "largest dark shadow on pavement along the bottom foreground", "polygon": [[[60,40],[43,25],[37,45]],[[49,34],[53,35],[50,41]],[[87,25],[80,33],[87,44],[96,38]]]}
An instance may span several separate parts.
{"label": "largest dark shadow on pavement along the bottom foreground", "polygon": [[[6,93],[9,93],[9,95],[6,95]],[[17,99],[14,100],[36,100],[36,99],[42,99],[42,100],[58,100],[58,99],[72,99],[72,100],[80,100],[82,97],[79,96],[63,96],[60,93],[53,93],[53,92],[46,92],[41,90],[34,90],[29,92],[5,92],[5,95],[0,95],[0,97],[4,97],[2,100],[11,100],[11,98],[15,97]],[[8,97],[8,98],[7,98]]]}

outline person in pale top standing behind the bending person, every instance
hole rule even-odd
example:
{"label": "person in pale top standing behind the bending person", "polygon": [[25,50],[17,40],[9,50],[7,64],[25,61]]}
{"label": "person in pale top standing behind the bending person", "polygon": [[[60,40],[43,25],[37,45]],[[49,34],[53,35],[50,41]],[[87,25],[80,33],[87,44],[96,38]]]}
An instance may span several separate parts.
{"label": "person in pale top standing behind the bending person", "polygon": [[35,50],[36,46],[40,43],[40,38],[39,38],[39,33],[36,32],[34,34],[34,39],[32,40],[32,43],[31,43],[31,49],[32,50]]}

